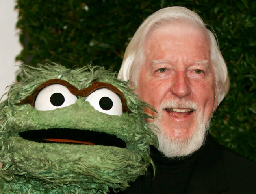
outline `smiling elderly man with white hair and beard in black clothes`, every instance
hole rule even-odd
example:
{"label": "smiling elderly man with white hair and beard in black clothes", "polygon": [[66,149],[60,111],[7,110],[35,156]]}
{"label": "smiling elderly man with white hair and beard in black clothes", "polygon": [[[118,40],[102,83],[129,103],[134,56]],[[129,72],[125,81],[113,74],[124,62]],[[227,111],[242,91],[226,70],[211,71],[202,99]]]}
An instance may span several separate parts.
{"label": "smiling elderly man with white hair and beard in black clothes", "polygon": [[256,164],[208,134],[213,112],[229,89],[214,35],[195,12],[168,7],[149,16],[130,41],[119,78],[156,112],[159,147],[148,169],[125,193],[255,193]]}

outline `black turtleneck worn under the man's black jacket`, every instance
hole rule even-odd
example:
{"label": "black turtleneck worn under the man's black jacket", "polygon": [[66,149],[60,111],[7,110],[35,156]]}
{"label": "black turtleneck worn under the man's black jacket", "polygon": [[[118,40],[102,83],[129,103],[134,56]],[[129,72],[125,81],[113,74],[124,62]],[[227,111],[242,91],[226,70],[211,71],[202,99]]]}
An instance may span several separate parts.
{"label": "black turtleneck worn under the man's black jacket", "polygon": [[147,176],[139,177],[124,193],[183,194],[202,149],[184,158],[169,159],[151,147],[151,158],[156,166],[155,176],[152,167],[148,168]]}

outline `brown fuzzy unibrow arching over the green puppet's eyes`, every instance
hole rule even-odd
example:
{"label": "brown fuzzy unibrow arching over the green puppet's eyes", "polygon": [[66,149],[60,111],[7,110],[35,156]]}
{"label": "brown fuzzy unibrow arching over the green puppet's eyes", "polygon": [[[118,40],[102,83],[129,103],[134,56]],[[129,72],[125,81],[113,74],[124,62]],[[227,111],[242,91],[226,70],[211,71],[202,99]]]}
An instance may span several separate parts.
{"label": "brown fuzzy unibrow arching over the green puppet's eyes", "polygon": [[21,100],[18,104],[30,104],[33,106],[34,104],[34,100],[37,97],[37,94],[45,87],[50,86],[52,84],[61,84],[63,86],[66,86],[67,89],[69,90],[69,92],[71,92],[72,94],[76,95],[76,96],[81,96],[81,97],[86,97],[89,94],[91,94],[92,92],[94,92],[95,90],[98,90],[100,88],[107,88],[115,93],[117,93],[117,95],[119,95],[122,104],[123,104],[123,112],[128,111],[130,112],[129,108],[126,105],[126,99],[124,97],[124,95],[122,94],[122,92],[120,92],[120,90],[118,90],[115,86],[108,84],[108,83],[103,83],[103,82],[92,82],[92,85],[89,86],[88,88],[84,88],[82,90],[78,90],[75,86],[73,86],[72,84],[70,84],[69,82],[65,81],[65,80],[61,80],[61,79],[50,79],[46,82],[44,82],[43,84],[39,85],[37,88],[35,88],[35,90],[33,91],[33,93],[31,93],[29,96],[27,96],[25,99]]}

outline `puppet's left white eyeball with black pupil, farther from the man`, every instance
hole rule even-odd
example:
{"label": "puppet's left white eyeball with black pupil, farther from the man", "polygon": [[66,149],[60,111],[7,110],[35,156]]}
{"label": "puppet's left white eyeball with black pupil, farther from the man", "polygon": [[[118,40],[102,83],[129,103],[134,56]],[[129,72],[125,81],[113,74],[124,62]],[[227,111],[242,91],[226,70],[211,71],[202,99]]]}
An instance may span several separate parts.
{"label": "puppet's left white eyeball with black pupil, farther from the man", "polygon": [[53,84],[43,88],[35,99],[35,109],[54,110],[74,104],[77,97],[60,84]]}

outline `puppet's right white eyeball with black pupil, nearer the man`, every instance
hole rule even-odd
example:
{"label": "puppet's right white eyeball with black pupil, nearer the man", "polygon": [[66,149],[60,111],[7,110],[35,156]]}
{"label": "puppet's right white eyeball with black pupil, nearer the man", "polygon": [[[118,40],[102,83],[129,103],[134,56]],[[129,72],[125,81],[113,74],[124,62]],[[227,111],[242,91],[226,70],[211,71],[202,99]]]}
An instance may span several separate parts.
{"label": "puppet's right white eyeball with black pupil, nearer the man", "polygon": [[99,112],[108,115],[122,115],[122,101],[115,92],[107,88],[95,90],[86,100]]}

